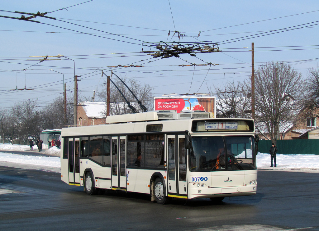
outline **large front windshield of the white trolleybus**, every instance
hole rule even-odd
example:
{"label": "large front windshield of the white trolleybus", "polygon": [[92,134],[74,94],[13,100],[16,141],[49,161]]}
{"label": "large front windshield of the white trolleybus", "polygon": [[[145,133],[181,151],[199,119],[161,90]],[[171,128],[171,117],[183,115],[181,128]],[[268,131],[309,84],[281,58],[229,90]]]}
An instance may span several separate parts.
{"label": "large front windshield of the white trolleybus", "polygon": [[255,169],[254,137],[192,137],[192,148],[189,154],[191,172]]}

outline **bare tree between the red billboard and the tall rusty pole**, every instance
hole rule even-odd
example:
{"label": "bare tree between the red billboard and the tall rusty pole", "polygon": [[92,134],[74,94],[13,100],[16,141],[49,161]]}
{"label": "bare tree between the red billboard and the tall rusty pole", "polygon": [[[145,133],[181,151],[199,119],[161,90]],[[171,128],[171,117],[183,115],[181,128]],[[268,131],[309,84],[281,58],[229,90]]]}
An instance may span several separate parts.
{"label": "bare tree between the red billboard and the tall rusty pole", "polygon": [[211,95],[216,95],[216,117],[219,118],[250,118],[251,102],[241,83],[227,81],[226,85],[214,86],[215,93],[209,88]]}

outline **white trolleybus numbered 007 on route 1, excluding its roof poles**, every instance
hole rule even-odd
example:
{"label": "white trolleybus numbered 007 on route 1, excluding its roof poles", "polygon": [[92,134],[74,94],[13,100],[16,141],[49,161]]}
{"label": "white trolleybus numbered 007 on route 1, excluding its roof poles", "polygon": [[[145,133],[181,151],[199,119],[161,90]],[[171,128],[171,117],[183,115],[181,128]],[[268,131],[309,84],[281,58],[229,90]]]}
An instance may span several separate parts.
{"label": "white trolleybus numbered 007 on route 1, excluding its roof poles", "polygon": [[209,112],[153,111],[108,116],[105,125],[62,129],[61,179],[97,189],[172,197],[256,194],[253,119],[215,119]]}

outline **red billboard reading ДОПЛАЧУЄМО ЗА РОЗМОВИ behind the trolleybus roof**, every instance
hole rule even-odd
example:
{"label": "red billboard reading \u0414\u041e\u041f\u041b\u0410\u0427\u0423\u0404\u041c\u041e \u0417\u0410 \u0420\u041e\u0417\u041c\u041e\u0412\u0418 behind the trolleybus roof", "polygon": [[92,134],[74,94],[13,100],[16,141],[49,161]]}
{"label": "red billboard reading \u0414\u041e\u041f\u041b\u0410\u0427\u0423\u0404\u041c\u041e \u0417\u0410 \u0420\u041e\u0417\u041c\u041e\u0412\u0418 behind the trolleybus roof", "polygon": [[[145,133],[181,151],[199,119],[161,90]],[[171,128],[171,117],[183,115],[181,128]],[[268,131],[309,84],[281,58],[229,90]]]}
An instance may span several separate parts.
{"label": "red billboard reading \u0414\u041e\u041f\u041b\u0410\u0427\u0423\u0404\u041c\u041e \u0417\u0410 \u0420\u041e\u0417\u041c\u041e\u0412\u0418 behind the trolleybus roof", "polygon": [[212,112],[215,118],[216,114],[216,97],[211,96],[170,96],[170,97],[154,97],[155,110],[176,110],[178,113],[182,111],[206,111]]}

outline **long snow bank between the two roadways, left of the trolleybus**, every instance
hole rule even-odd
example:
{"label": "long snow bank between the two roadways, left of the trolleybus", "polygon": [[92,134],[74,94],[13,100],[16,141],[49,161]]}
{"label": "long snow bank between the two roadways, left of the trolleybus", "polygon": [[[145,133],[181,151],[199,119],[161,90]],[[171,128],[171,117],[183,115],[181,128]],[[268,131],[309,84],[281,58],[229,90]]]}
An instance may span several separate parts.
{"label": "long snow bank between the two roadways, left of the trolleybus", "polygon": [[61,167],[60,157],[48,156],[26,156],[11,153],[0,153],[0,162],[11,162],[25,165],[41,165],[55,168]]}

